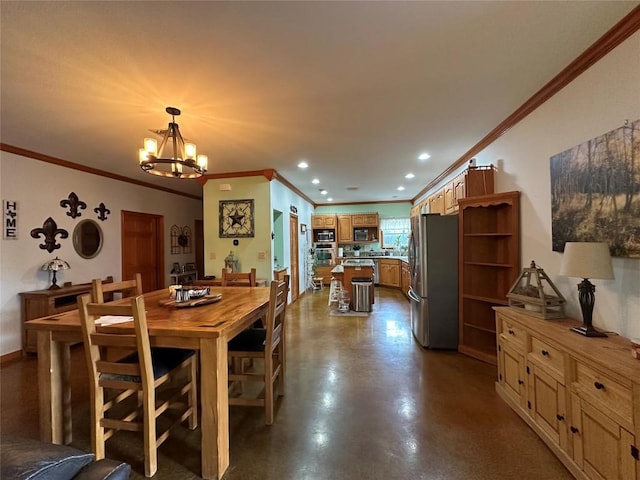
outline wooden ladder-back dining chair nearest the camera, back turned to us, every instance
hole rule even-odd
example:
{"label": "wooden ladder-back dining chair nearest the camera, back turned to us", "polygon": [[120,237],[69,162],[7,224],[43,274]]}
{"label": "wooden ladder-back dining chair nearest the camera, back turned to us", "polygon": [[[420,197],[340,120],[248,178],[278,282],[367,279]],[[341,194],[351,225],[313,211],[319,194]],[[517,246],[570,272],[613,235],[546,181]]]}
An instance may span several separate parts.
{"label": "wooden ladder-back dining chair nearest the camera, back turned to us", "polygon": [[[89,370],[93,453],[97,460],[103,459],[105,442],[118,430],[143,432],[144,471],[151,477],[158,469],[157,449],[169,429],[187,419],[191,430],[198,426],[196,352],[151,348],[140,295],[119,305],[90,303],[89,295],[83,295],[78,310]],[[101,331],[97,324],[107,315],[130,317],[134,331]],[[135,352],[111,361],[102,355],[110,347]],[[173,421],[161,429],[156,423],[160,416]]]}

